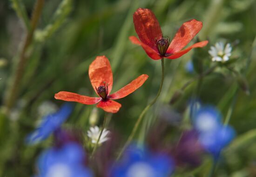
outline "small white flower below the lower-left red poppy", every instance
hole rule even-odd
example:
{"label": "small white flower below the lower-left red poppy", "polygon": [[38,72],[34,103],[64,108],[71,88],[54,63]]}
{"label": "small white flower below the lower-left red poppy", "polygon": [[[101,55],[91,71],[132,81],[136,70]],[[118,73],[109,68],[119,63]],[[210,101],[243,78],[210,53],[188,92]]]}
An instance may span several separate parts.
{"label": "small white flower below the lower-left red poppy", "polygon": [[[100,133],[101,133],[101,130],[98,126],[90,127],[90,130],[87,131],[87,135],[92,140],[93,144],[97,143]],[[109,133],[109,131],[104,128],[104,130],[101,134],[101,139],[99,140],[99,144],[101,144],[109,139],[107,137],[108,133]]]}

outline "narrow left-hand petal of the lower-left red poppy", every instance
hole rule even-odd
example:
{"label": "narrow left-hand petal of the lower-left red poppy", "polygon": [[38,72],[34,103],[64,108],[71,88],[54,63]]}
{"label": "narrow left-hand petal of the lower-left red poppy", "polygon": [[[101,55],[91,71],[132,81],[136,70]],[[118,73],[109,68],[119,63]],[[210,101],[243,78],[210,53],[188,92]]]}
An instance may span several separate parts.
{"label": "narrow left-hand petal of the lower-left red poppy", "polygon": [[57,100],[75,101],[82,104],[96,104],[101,100],[101,98],[89,97],[89,96],[79,95],[79,94],[75,94],[72,92],[65,92],[65,91],[55,94],[54,98]]}

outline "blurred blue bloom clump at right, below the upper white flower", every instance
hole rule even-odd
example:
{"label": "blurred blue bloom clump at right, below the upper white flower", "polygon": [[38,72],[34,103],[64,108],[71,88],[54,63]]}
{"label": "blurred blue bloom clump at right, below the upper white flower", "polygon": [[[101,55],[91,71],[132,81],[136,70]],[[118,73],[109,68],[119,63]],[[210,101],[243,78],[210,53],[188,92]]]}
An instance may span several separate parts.
{"label": "blurred blue bloom clump at right, below the upper white flower", "polygon": [[221,150],[236,136],[233,127],[222,124],[221,114],[214,107],[201,107],[193,121],[199,141],[214,158],[218,158]]}

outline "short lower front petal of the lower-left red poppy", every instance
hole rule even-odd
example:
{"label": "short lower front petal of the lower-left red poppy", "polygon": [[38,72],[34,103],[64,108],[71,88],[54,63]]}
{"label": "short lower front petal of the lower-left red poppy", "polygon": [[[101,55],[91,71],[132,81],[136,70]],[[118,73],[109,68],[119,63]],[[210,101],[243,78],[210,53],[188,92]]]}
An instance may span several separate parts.
{"label": "short lower front petal of the lower-left red poppy", "polygon": [[97,104],[97,107],[100,107],[101,109],[109,113],[117,113],[121,106],[122,105],[120,103],[113,100],[102,100],[101,102],[99,102],[99,104]]}

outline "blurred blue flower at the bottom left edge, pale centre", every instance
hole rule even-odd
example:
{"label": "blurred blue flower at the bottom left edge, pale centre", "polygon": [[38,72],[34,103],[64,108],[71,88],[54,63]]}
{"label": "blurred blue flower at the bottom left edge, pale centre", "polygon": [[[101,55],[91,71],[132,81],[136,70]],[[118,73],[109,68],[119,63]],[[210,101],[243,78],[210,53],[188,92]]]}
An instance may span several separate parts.
{"label": "blurred blue flower at the bottom left edge, pale centre", "polygon": [[76,143],[48,149],[38,160],[39,177],[93,177],[84,165],[85,158],[82,146]]}

